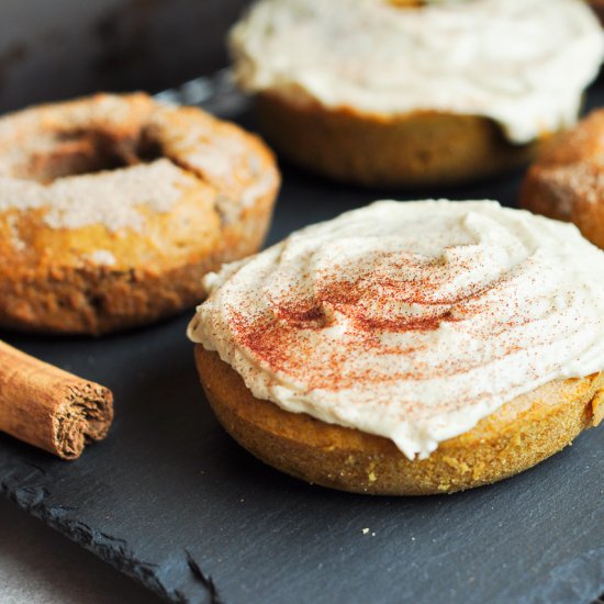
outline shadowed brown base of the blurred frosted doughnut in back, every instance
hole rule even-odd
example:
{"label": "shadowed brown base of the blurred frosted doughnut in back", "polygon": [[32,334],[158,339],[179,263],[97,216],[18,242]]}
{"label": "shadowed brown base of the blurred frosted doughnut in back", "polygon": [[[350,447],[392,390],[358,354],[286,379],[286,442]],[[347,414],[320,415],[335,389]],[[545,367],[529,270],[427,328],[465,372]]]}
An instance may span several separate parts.
{"label": "shadowed brown base of the blurred frosted doughnut in back", "polygon": [[283,156],[329,178],[369,187],[423,188],[480,180],[530,160],[485,118],[415,112],[395,118],[257,99],[262,132]]}

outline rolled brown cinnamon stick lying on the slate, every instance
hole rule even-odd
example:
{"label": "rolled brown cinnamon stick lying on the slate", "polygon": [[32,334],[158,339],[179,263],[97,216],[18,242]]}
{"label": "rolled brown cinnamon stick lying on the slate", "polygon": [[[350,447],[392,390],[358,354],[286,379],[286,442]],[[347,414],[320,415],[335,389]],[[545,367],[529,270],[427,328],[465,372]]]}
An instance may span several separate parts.
{"label": "rolled brown cinnamon stick lying on the slate", "polygon": [[0,342],[0,430],[57,455],[78,458],[107,436],[111,390]]}

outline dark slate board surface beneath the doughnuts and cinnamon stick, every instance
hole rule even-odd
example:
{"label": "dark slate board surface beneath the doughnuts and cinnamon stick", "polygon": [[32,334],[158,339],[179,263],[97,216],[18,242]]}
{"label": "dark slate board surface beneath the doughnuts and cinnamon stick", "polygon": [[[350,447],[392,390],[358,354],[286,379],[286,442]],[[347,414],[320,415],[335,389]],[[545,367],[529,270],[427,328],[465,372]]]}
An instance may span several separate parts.
{"label": "dark slate board surface beneath the doughnuts and cinnamon stick", "polygon": [[[604,85],[589,101],[604,104]],[[270,241],[379,198],[514,205],[521,178],[402,195],[286,167]],[[221,429],[184,338],[190,316],[99,340],[0,334],[116,400],[108,440],[72,463],[0,435],[0,491],[174,602],[570,604],[604,591],[602,427],[514,479],[450,496],[306,485]]]}

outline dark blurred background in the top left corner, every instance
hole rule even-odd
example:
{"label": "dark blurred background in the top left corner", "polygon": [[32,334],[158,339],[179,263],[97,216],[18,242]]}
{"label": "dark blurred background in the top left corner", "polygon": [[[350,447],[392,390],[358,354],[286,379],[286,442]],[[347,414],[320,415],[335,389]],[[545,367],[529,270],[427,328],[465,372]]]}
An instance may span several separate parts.
{"label": "dark blurred background in the top left corner", "polygon": [[246,0],[0,0],[0,112],[177,86],[226,61]]}

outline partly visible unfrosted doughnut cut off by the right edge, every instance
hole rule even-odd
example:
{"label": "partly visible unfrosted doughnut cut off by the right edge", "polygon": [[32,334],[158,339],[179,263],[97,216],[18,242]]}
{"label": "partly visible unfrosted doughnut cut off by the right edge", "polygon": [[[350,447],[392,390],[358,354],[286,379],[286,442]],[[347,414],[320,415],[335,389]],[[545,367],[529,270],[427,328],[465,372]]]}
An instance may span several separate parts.
{"label": "partly visible unfrosted doughnut cut off by the right edge", "polygon": [[573,222],[584,237],[604,248],[604,110],[547,145],[528,170],[521,205]]}

